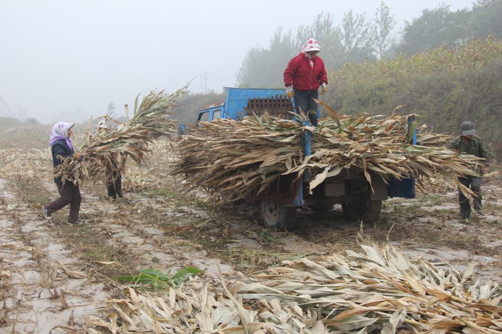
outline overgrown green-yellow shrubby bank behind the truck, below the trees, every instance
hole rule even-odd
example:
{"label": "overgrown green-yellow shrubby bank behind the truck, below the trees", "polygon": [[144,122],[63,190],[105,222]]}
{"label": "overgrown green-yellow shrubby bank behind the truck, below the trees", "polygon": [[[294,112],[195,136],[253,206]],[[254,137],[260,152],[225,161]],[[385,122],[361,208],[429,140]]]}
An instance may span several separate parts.
{"label": "overgrown green-yellow shrubby bank behind the truck, below the trees", "polygon": [[330,73],[323,99],[346,114],[419,114],[435,132],[458,134],[471,120],[478,134],[502,157],[502,42],[474,41],[410,58],[348,64]]}

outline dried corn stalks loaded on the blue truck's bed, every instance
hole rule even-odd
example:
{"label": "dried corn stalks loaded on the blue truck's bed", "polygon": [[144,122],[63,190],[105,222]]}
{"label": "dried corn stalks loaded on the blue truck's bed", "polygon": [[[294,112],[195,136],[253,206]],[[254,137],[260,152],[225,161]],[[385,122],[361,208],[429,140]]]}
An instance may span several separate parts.
{"label": "dried corn stalks loaded on the blue truck's bed", "polygon": [[[352,167],[370,185],[369,172],[386,183],[414,177],[419,186],[438,176],[458,184],[459,176],[477,175],[473,169],[479,158],[445,148],[449,136],[418,131],[418,144],[409,144],[413,131],[408,131],[408,117],[413,115],[400,116],[396,110],[389,117],[339,115],[319,103],[330,118],[321,119],[317,127],[303,125],[303,115],[296,115],[299,121],[261,115],[199,122],[179,142],[173,175],[181,176],[188,188],[204,189],[216,202],[253,198],[281,176],[304,171],[312,175],[311,192]],[[312,138],[308,156],[303,153],[304,131]]]}

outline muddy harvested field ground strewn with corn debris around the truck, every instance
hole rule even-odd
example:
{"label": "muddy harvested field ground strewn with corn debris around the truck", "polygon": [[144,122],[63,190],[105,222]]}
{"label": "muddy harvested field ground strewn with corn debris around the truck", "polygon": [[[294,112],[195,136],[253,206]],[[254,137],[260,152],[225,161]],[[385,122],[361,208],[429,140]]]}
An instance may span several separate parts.
{"label": "muddy harvested field ground strewn with corn debris around the truck", "polygon": [[298,231],[270,233],[256,203],[214,207],[180,190],[168,176],[169,145],[158,142],[148,168],[124,175],[123,200],[109,200],[103,185],[83,189],[82,224],[70,226],[66,208],[50,222],[41,214],[57,195],[46,132],[0,131],[0,333],[85,331],[86,316],[105,312],[107,298],[123,293],[113,277],[139,269],[193,266],[218,280],[219,270],[251,273],[372,241],[454,270],[474,261],[476,275],[502,282],[500,179],[485,180],[485,214],[469,221],[457,219],[456,189],[444,183],[414,200],[386,201],[374,225],[348,222],[335,206],[299,210]]}

